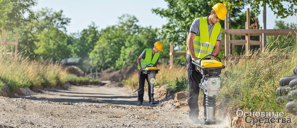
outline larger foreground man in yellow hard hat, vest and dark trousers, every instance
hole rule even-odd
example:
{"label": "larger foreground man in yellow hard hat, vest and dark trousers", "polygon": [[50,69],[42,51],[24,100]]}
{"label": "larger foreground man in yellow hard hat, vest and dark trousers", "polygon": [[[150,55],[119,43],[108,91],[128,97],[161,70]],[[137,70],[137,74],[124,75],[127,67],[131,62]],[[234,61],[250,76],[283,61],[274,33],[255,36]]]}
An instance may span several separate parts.
{"label": "larger foreground man in yellow hard hat, vest and dark trousers", "polygon": [[[187,38],[187,73],[189,81],[188,105],[189,116],[192,122],[199,123],[198,119],[198,94],[202,74],[195,70],[195,65],[191,61],[201,59],[209,54],[217,55],[220,51],[220,41],[222,39],[222,27],[218,23],[225,20],[227,9],[224,4],[217,3],[212,7],[210,15],[199,17],[192,22]],[[206,117],[206,103],[203,97],[204,116]]]}

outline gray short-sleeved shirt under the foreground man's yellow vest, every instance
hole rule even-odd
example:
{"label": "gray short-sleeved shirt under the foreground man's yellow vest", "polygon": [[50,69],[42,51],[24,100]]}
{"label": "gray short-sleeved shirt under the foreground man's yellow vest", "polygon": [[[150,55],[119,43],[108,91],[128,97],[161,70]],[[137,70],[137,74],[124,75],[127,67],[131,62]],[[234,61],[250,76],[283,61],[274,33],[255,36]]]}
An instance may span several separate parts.
{"label": "gray short-sleeved shirt under the foreground man's yellow vest", "polygon": [[[208,18],[208,16],[207,16],[207,18]],[[210,26],[208,21],[207,21],[207,24],[208,24],[208,33],[209,33],[209,38],[210,38],[212,30],[214,29],[214,24],[212,26]],[[197,18],[192,22],[192,25],[190,27],[190,33],[194,33],[194,34],[196,34],[196,36],[200,36],[199,25],[200,25],[199,18]],[[222,28],[221,28],[221,31],[219,32],[219,35],[217,38],[217,41],[221,41],[221,40],[222,40]]]}

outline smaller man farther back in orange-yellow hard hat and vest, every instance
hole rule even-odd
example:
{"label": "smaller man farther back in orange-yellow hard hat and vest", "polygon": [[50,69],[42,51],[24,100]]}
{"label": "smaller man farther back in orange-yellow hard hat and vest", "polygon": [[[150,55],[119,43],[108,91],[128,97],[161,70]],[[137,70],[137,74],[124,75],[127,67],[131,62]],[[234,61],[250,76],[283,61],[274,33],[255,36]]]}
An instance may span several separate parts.
{"label": "smaller man farther back in orange-yellow hard hat and vest", "polygon": [[[153,48],[146,48],[137,58],[138,63],[138,76],[139,76],[139,88],[138,88],[138,106],[141,106],[143,103],[143,94],[144,94],[144,82],[145,80],[149,83],[148,74],[143,74],[141,69],[144,69],[147,65],[148,67],[153,67],[158,64],[160,53],[162,51],[162,43],[157,41],[154,43]],[[150,64],[150,65],[149,65]],[[154,64],[154,65],[152,65]],[[152,104],[151,101],[151,86],[149,85],[149,104]]]}

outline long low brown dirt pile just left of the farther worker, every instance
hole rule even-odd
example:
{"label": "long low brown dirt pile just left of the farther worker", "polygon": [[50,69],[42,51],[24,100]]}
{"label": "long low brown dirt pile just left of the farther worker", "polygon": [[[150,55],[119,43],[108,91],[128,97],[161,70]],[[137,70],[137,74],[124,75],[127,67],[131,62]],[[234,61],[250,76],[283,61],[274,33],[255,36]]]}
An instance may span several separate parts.
{"label": "long low brown dirt pile just left of the farther worker", "polygon": [[124,67],[121,70],[115,71],[114,69],[106,69],[99,74],[99,80],[110,80],[111,82],[119,82],[121,80],[125,80],[129,77],[129,75],[137,72],[137,66],[131,65],[128,67]]}

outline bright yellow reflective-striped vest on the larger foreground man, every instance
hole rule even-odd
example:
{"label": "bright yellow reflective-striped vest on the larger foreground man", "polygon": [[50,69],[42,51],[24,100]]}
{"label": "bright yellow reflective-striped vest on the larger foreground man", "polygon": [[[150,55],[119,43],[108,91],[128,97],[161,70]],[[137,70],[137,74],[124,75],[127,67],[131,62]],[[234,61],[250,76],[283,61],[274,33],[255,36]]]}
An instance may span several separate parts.
{"label": "bright yellow reflective-striped vest on the larger foreground man", "polygon": [[[193,40],[195,57],[201,59],[206,55],[212,54],[214,46],[216,45],[219,32],[221,31],[221,25],[219,23],[214,24],[214,28],[209,38],[207,17],[199,17],[199,32],[200,36],[195,36]],[[188,51],[190,54],[190,51]]]}

